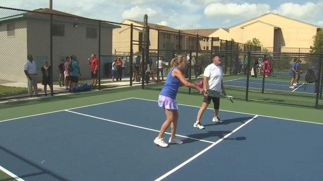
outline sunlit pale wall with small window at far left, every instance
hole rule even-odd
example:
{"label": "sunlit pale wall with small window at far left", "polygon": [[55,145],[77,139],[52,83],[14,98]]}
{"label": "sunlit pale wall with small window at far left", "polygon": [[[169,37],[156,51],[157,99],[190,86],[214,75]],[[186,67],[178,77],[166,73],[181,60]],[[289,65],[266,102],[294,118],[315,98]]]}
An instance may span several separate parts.
{"label": "sunlit pale wall with small window at far left", "polygon": [[[7,25],[15,24],[15,35],[7,35]],[[2,22],[0,26],[0,79],[2,82],[26,82],[24,64],[27,61],[27,21]]]}

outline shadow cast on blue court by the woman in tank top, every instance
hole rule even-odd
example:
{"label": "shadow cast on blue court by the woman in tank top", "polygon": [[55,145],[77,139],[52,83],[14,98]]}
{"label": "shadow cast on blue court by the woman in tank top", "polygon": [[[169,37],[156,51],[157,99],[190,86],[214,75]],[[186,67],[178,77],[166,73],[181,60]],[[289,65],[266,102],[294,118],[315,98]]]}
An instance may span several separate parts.
{"label": "shadow cast on blue court by the woman in tank top", "polygon": [[[231,131],[207,131],[207,133],[186,135],[187,137],[190,137],[190,138],[186,138],[182,141],[184,142],[184,144],[186,144],[186,143],[192,143],[192,142],[199,141],[205,138],[210,138],[210,137],[218,137],[219,139],[221,139],[229,133],[231,133]],[[195,139],[191,139],[191,138],[195,138]],[[216,138],[214,138],[214,140],[216,140]]]}

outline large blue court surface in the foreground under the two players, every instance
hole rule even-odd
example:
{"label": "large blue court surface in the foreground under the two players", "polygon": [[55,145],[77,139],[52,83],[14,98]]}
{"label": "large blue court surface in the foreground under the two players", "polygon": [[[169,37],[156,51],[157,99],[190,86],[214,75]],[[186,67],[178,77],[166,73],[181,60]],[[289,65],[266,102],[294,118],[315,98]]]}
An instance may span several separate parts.
{"label": "large blue court surface in the foreground under the two players", "polygon": [[[165,121],[137,98],[0,122],[0,165],[17,180],[321,180],[323,124],[179,105],[182,145],[153,143]],[[170,131],[170,129],[169,129]],[[166,134],[166,140],[169,138]],[[4,170],[2,169],[2,170]]]}

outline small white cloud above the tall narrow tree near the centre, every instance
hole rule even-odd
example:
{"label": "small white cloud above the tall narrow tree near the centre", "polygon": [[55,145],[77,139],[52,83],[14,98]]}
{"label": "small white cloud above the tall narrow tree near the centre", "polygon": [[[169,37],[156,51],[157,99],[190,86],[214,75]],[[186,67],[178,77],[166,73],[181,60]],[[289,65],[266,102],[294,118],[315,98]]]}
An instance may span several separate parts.
{"label": "small white cloud above the tall narrow tree near the centre", "polygon": [[143,18],[143,16],[147,14],[148,17],[154,17],[157,15],[157,12],[155,10],[152,10],[150,8],[140,8],[139,6],[132,7],[130,10],[126,10],[122,13],[121,17],[123,19],[137,19],[137,18]]}

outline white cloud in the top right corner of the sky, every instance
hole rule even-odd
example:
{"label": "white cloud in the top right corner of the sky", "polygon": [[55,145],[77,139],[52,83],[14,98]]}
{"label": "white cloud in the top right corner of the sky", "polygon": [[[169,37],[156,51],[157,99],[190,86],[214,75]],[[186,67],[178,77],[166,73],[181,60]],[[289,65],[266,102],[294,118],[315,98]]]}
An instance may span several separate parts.
{"label": "white cloud in the top right corner of the sky", "polygon": [[305,3],[303,5],[295,3],[284,3],[281,4],[273,13],[278,13],[290,18],[295,19],[310,19],[315,18],[319,11],[323,8],[322,3]]}

